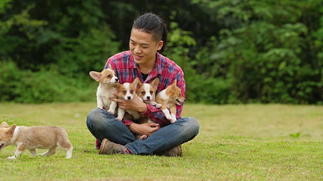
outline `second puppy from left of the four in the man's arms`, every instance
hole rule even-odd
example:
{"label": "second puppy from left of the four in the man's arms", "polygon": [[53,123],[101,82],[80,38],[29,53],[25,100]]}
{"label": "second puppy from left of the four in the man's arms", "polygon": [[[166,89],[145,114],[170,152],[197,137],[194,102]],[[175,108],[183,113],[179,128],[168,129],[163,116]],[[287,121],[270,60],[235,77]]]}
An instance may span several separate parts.
{"label": "second puppy from left of the four in the man's arms", "polygon": [[[123,84],[120,84],[120,83],[115,84],[114,87],[117,90],[118,99],[125,99],[127,101],[131,101],[134,96],[137,96],[136,88],[137,88],[138,81],[139,81],[139,78],[137,77],[136,79],[134,79],[134,81],[132,83],[126,82]],[[126,111],[133,116],[134,120],[137,120],[140,118],[139,112],[133,111],[133,110],[124,110],[124,109],[118,107],[117,119],[119,121],[122,121]]]}

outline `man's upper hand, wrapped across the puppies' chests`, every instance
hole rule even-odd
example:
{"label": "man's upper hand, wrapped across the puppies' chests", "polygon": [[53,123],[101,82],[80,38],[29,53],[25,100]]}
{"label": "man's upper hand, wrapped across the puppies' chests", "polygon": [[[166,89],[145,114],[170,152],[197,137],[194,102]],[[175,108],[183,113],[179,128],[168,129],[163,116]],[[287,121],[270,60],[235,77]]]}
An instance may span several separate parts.
{"label": "man's upper hand, wrapped across the puppies' chests", "polygon": [[[113,93],[113,95],[118,96],[117,93]],[[146,103],[141,102],[137,96],[134,96],[131,101],[117,98],[110,98],[110,100],[117,102],[118,106],[125,110],[134,110],[138,111],[139,113],[144,113],[147,110]]]}

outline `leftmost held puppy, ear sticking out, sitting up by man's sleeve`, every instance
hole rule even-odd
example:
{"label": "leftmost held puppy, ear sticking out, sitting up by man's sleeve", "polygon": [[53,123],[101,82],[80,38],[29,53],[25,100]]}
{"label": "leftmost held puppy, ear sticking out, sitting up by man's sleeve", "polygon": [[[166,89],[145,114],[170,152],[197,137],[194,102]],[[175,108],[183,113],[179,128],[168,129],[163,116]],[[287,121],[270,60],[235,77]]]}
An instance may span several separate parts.
{"label": "leftmost held puppy, ear sticking out, sitting up by man's sleeve", "polygon": [[97,107],[100,109],[103,109],[104,107],[107,112],[114,114],[118,104],[111,101],[109,98],[116,98],[116,96],[113,95],[113,93],[117,93],[114,85],[119,83],[119,79],[116,77],[115,71],[109,64],[109,68],[106,68],[101,72],[90,71],[90,76],[99,82],[96,91]]}

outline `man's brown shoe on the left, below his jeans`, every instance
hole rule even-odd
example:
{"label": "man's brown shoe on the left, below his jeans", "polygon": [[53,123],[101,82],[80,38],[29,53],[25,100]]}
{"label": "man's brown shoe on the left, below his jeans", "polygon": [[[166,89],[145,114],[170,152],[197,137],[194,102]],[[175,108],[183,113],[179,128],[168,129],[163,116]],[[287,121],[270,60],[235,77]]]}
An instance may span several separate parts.
{"label": "man's brown shoe on the left, below his jeans", "polygon": [[127,148],[121,144],[116,144],[106,138],[103,139],[99,154],[124,154]]}

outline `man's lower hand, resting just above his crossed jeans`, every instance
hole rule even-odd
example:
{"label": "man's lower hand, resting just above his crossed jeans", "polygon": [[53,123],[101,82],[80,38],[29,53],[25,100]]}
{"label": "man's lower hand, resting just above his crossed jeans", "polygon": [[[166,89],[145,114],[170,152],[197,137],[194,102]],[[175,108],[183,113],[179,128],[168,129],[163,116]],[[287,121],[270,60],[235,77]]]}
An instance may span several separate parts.
{"label": "man's lower hand, resting just above his crossed jeans", "polygon": [[153,132],[157,131],[160,126],[157,123],[143,123],[143,124],[137,124],[132,123],[128,126],[129,130],[135,134],[138,134],[140,136],[147,135],[150,136]]}

